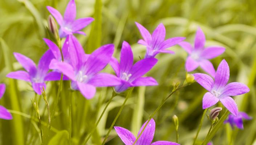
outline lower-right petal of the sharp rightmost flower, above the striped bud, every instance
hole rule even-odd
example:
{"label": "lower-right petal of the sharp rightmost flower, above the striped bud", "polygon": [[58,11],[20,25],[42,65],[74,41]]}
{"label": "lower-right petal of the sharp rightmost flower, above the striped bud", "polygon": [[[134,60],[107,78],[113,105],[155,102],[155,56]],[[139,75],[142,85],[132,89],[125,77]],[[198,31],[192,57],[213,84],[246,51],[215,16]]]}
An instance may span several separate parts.
{"label": "lower-right petal of the sharp rightmost flower, above the striped bud", "polygon": [[227,96],[224,98],[220,98],[220,101],[233,115],[238,115],[238,108],[234,99]]}

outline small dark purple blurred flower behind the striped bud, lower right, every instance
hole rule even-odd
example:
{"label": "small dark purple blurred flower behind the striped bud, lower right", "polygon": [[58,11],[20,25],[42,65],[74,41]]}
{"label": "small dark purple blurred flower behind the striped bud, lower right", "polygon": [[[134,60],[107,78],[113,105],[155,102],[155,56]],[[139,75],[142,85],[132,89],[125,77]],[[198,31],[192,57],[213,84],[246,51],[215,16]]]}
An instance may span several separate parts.
{"label": "small dark purple blurred flower behind the striped bud, lower right", "polygon": [[229,123],[232,128],[236,126],[239,129],[244,129],[243,119],[251,120],[252,117],[248,116],[245,112],[238,112],[237,116],[230,114],[224,123]]}

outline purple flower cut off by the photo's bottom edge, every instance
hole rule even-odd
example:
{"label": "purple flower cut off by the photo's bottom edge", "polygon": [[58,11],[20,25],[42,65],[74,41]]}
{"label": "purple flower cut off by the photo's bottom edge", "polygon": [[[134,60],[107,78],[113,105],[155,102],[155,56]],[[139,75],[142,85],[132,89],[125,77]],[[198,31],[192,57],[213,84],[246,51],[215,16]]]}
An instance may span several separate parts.
{"label": "purple flower cut off by the photo's bottom edge", "polygon": [[[145,122],[142,125],[138,135],[141,133],[146,123],[147,122]],[[125,145],[133,145],[134,141],[136,140],[133,133],[131,133],[129,130],[122,127],[114,127],[114,128],[115,128],[115,131],[117,132],[117,135],[121,138],[121,140]],[[154,138],[154,134],[155,134],[155,121],[154,119],[151,119],[135,145],[179,145],[175,142],[170,142],[170,141],[157,141],[151,144]]]}

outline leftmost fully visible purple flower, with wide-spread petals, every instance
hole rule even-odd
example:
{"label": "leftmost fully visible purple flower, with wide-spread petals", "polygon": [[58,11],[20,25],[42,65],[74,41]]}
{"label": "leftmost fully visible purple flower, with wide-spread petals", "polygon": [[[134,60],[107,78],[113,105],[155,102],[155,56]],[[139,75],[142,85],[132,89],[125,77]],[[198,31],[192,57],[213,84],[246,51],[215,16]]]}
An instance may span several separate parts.
{"label": "leftmost fully visible purple flower, with wide-spread petals", "polygon": [[41,95],[42,87],[46,89],[45,81],[60,80],[59,72],[49,72],[49,63],[53,59],[51,50],[45,52],[41,57],[38,66],[28,57],[20,53],[13,53],[17,61],[26,71],[19,70],[7,74],[8,78],[25,80],[32,83],[34,91]]}

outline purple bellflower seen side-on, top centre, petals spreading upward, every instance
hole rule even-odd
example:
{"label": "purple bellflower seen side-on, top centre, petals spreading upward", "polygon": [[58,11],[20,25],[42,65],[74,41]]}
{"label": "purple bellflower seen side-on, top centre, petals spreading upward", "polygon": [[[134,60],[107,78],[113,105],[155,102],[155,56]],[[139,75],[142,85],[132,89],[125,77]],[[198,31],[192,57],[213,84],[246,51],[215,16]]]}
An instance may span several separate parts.
{"label": "purple bellflower seen side-on, top centre, petals spreading upward", "polygon": [[135,22],[135,24],[137,25],[139,32],[143,37],[143,40],[139,40],[138,43],[147,47],[145,58],[155,57],[155,55],[157,55],[158,53],[173,54],[174,51],[166,49],[186,39],[185,37],[174,37],[164,40],[165,28],[162,23],[157,26],[152,35],[141,24],[137,22]]}

